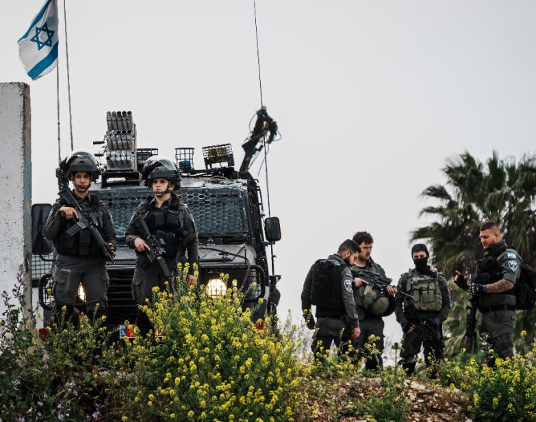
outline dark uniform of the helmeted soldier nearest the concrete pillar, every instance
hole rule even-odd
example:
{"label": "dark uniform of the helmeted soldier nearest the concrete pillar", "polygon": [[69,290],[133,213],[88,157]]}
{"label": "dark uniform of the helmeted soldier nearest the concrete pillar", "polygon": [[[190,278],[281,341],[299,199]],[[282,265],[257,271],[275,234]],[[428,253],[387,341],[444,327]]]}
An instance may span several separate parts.
{"label": "dark uniform of the helmeted soldier nearest the concrete pillar", "polygon": [[[74,194],[85,212],[97,210],[99,232],[106,243],[112,243],[115,247],[116,231],[110,210],[105,203],[92,193],[84,199],[77,197],[76,192]],[[66,230],[75,224],[76,219],[67,220],[58,213],[63,205],[61,199],[55,201],[44,227],[44,236],[53,241],[57,251],[52,274],[54,301],[57,306],[66,305],[68,312],[71,312],[78,288],[82,284],[89,316],[93,316],[97,304],[97,315],[104,315],[107,310],[106,293],[110,284],[104,255],[90,237],[89,229],[82,229],[72,238],[66,236]]]}

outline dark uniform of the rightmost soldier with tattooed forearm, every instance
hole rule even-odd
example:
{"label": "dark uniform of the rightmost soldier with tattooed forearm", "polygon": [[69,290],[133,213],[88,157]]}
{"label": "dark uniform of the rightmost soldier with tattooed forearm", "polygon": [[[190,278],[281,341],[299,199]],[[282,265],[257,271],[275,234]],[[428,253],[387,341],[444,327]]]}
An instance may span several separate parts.
{"label": "dark uniform of the rightmost soldier with tattooed forearm", "polygon": [[[521,258],[504,240],[491,245],[486,256],[478,260],[476,284],[493,284],[508,280],[515,284],[520,276]],[[481,332],[487,332],[493,349],[501,358],[513,356],[515,328],[515,288],[503,293],[482,293],[476,305],[481,312]]]}

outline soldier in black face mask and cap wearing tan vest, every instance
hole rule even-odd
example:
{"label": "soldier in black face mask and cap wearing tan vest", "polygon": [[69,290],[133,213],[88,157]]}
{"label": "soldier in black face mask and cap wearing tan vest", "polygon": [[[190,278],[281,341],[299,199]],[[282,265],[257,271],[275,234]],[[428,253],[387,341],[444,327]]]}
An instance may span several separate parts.
{"label": "soldier in black face mask and cap wearing tan vest", "polygon": [[[430,253],[426,245],[413,245],[411,258],[415,268],[401,275],[395,296],[396,321],[404,332],[399,363],[408,376],[415,371],[416,356],[421,345],[424,345],[426,367],[443,357],[442,323],[450,312],[448,282],[441,273],[429,266]],[[400,292],[408,293],[413,299],[401,295]],[[429,376],[437,376],[435,367]]]}

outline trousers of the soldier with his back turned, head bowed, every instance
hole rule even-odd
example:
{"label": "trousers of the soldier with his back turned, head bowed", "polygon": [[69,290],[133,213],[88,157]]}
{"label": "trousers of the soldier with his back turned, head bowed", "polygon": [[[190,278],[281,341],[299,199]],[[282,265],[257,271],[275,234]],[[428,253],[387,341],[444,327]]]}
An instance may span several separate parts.
{"label": "trousers of the soldier with his back turned, head bowed", "polygon": [[317,353],[329,353],[332,342],[337,346],[339,356],[348,353],[351,344],[350,335],[341,318],[319,316],[316,319],[315,329],[313,343],[311,343],[315,358],[318,358]]}

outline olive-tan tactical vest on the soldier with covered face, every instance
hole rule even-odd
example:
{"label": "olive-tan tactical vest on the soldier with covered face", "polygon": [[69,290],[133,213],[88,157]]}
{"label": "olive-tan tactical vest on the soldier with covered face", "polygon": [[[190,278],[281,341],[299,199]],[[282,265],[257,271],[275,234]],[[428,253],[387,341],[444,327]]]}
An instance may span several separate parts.
{"label": "olive-tan tactical vest on the soldier with covered face", "polygon": [[[443,306],[443,295],[441,288],[439,288],[439,273],[436,271],[422,275],[410,269],[405,293],[414,297],[411,301],[418,312],[439,312]],[[409,299],[405,298],[404,300]]]}

